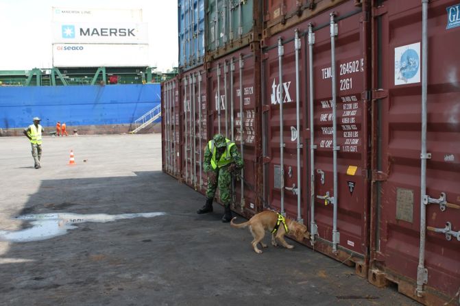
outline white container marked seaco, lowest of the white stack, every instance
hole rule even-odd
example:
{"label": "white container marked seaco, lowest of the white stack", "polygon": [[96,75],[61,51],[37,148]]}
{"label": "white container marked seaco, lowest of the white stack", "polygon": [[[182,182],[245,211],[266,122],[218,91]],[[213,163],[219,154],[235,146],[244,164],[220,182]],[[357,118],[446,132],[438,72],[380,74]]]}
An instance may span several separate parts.
{"label": "white container marked seaco, lowest of the white stack", "polygon": [[148,44],[53,44],[54,67],[146,67]]}

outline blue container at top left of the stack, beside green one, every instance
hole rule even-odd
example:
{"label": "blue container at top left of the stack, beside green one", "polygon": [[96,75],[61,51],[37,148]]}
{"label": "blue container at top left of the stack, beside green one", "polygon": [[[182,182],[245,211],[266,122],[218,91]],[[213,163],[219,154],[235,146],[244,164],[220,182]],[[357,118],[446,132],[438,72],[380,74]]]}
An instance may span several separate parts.
{"label": "blue container at top left of the stack, beside green one", "polygon": [[205,0],[178,0],[179,68],[188,71],[204,61]]}

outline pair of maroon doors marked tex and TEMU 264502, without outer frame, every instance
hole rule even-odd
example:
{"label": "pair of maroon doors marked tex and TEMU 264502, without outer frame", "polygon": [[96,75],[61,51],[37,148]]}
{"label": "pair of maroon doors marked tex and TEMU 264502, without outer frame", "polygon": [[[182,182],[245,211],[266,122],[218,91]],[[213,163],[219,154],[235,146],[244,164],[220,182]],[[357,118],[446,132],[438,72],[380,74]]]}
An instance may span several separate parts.
{"label": "pair of maroon doors marked tex and TEMU 264502, without outer frame", "polygon": [[[356,8],[353,1],[337,5],[334,9],[338,34],[335,38],[335,64],[337,86],[337,190],[334,195],[334,173],[332,159],[332,78],[331,78],[331,42],[330,42],[330,10],[297,25],[302,33],[302,51],[300,54],[300,94],[301,94],[301,137],[303,145],[302,157],[302,218],[304,223],[311,225],[311,196],[315,199],[313,220],[317,225],[315,248],[332,255],[333,205],[317,196],[335,196],[337,204],[337,246],[338,251],[354,252],[352,260],[359,262],[357,257],[364,257],[367,249],[367,206],[368,182],[366,179],[368,164],[367,120],[368,112],[362,92],[365,91],[365,26],[361,8]],[[313,44],[313,79],[306,77],[309,73],[308,59],[308,23],[313,23],[315,43]],[[296,144],[293,142],[295,127],[295,57],[292,41],[294,28],[283,31],[280,36],[284,45],[282,55],[282,88],[283,88],[283,142],[284,164],[280,171],[280,104],[279,64],[276,42],[278,37],[265,40],[264,75],[265,103],[271,103],[267,114],[267,158],[265,167],[267,181],[267,201],[270,207],[281,209],[281,188],[284,180],[284,209],[288,216],[297,216],[297,197],[293,194],[293,184],[298,186],[296,179]],[[307,34],[308,35],[308,34]],[[306,81],[305,81],[306,77]],[[310,120],[305,112],[310,92],[307,90],[313,82],[313,117],[314,117],[314,171],[315,194],[311,194],[310,179]],[[310,111],[310,110],[309,110]],[[284,175],[282,175],[284,172]],[[311,226],[313,227],[313,225]],[[347,251],[348,250],[348,251]],[[340,253],[340,252],[339,252]],[[361,254],[361,256],[357,255]],[[343,258],[343,253],[337,258]],[[346,255],[349,257],[349,255]],[[345,257],[345,258],[346,258]],[[365,274],[365,271],[361,272]]]}

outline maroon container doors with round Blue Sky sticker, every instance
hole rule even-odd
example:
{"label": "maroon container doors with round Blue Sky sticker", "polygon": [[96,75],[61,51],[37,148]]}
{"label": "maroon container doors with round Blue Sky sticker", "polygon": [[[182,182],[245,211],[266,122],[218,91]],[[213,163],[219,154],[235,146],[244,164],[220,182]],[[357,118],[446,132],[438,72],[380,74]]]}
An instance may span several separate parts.
{"label": "maroon container doors with round Blue Sky sticker", "polygon": [[[424,297],[414,296],[420,256],[422,130],[422,3],[383,1],[376,11],[378,150],[374,188],[378,226],[375,266],[400,283],[400,291],[422,303],[441,305],[460,287],[460,27],[459,1],[428,3],[428,125],[426,195],[447,205],[426,207]],[[457,21],[457,25],[455,25]],[[453,24],[449,28],[449,24]],[[381,78],[379,76],[381,75]],[[443,197],[442,194],[445,194]],[[441,199],[441,200],[442,200]],[[443,231],[450,228],[450,240]],[[456,236],[453,235],[456,233]],[[403,286],[404,280],[410,285]],[[433,290],[434,288],[434,290]],[[458,301],[458,296],[456,298]]]}

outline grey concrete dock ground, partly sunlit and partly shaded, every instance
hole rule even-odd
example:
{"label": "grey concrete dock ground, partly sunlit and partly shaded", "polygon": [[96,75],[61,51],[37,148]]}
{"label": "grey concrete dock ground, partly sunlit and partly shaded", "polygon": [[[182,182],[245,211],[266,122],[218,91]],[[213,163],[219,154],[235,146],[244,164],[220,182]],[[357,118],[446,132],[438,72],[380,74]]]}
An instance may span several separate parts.
{"label": "grey concrete dock ground, partly sunlit and partly shaded", "polygon": [[60,234],[0,242],[0,305],[418,305],[296,242],[254,253],[161,172],[158,134],[45,137],[42,164],[25,137],[0,138],[0,238]]}

